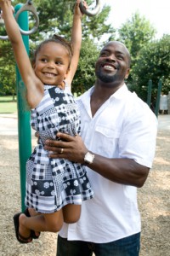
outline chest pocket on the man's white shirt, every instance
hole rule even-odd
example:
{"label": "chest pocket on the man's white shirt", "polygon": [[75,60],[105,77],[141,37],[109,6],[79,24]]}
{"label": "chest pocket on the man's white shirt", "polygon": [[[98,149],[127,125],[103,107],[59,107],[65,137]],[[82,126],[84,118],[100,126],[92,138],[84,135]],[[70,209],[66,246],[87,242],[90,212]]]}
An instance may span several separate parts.
{"label": "chest pocket on the man's white shirt", "polygon": [[98,152],[106,157],[118,157],[118,143],[121,131],[116,127],[96,126],[96,135],[98,142]]}

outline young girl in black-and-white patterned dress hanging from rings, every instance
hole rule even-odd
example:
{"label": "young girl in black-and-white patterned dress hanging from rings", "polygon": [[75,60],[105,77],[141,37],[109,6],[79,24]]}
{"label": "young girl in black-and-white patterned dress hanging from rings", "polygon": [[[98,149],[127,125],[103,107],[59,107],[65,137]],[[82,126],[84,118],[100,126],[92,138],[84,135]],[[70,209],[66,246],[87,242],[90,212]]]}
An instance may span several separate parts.
{"label": "young girl in black-and-white patterned dress hanging from rings", "polygon": [[[71,82],[76,72],[81,46],[81,12],[77,1],[71,41],[77,47],[72,58],[71,44],[54,36],[36,50],[33,68],[14,20],[9,0],[0,0],[3,19],[14,57],[27,89],[31,107],[31,125],[39,133],[39,143],[26,163],[26,214],[14,215],[17,240],[32,241],[40,231],[57,232],[63,222],[77,222],[82,200],[93,197],[86,171],[80,164],[65,159],[49,159],[44,143],[56,139],[58,131],[77,136],[80,120],[77,106],[68,88],[59,84]],[[77,28],[77,31],[76,31]],[[72,61],[71,61],[72,58]],[[71,67],[71,74],[70,66]],[[63,153],[63,148],[60,154]]]}

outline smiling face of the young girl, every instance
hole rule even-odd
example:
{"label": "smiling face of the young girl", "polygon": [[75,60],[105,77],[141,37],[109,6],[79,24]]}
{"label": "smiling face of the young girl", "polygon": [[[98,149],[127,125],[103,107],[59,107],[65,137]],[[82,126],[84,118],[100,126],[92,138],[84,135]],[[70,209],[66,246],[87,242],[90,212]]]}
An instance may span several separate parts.
{"label": "smiling face of the young girl", "polygon": [[58,85],[69,72],[69,53],[65,46],[49,42],[37,53],[34,71],[43,84]]}

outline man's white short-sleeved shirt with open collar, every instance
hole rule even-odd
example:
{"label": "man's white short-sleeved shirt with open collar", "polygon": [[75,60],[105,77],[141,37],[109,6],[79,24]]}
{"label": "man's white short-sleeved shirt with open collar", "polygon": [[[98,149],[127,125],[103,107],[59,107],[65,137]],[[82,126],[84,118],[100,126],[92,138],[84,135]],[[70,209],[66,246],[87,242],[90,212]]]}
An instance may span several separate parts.
{"label": "man's white short-sleeved shirt with open collar", "polygon": [[[156,149],[156,115],[124,84],[92,117],[93,90],[94,87],[77,99],[82,139],[88,150],[151,167]],[[111,182],[88,167],[87,172],[94,198],[82,202],[79,221],[64,224],[59,235],[69,240],[105,243],[140,232],[137,188]]]}

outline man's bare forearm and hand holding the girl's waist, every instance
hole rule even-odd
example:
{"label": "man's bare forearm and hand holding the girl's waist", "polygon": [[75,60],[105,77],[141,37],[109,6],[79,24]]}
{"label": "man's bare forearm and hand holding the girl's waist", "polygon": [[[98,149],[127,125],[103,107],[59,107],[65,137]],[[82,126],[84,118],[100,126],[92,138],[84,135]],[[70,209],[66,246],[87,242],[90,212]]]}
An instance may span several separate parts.
{"label": "man's bare forearm and hand holding the girl's waist", "polygon": [[[58,133],[62,141],[47,141],[45,149],[52,151],[51,158],[65,158],[84,164],[84,156],[88,152],[82,137],[71,137],[69,135]],[[61,148],[63,153],[60,154]],[[94,154],[94,153],[93,153]],[[98,172],[105,178],[115,183],[142,187],[148,176],[150,168],[139,165],[131,159],[110,159],[99,154],[94,154],[94,162],[88,167],[94,172]]]}

